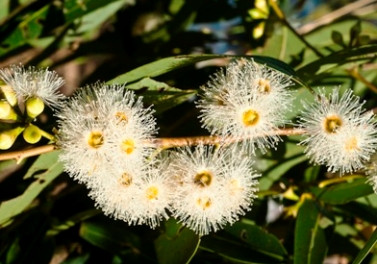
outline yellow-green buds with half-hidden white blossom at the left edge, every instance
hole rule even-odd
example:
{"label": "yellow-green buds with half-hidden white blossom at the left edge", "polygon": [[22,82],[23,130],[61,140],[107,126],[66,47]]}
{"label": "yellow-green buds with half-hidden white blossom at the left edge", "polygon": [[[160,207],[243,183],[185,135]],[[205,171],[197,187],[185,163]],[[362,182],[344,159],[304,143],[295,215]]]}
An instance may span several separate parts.
{"label": "yellow-green buds with half-hidden white blossom at the left edge", "polygon": [[64,80],[56,72],[25,68],[13,65],[0,69],[0,149],[6,150],[13,146],[22,133],[24,140],[35,144],[42,137],[52,137],[41,130],[35,119],[44,111],[45,105],[59,108],[64,95],[59,88]]}

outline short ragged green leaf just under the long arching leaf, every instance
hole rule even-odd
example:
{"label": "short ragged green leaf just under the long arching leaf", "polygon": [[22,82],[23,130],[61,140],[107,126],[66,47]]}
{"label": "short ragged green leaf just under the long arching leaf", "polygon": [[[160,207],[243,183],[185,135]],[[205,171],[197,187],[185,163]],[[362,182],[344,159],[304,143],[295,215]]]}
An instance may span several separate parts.
{"label": "short ragged green leaf just under the long arching leaf", "polygon": [[150,78],[141,79],[136,83],[127,85],[126,88],[142,90],[140,95],[144,97],[143,101],[147,104],[153,103],[153,108],[156,109],[157,113],[181,104],[197,93],[195,90],[180,90]]}

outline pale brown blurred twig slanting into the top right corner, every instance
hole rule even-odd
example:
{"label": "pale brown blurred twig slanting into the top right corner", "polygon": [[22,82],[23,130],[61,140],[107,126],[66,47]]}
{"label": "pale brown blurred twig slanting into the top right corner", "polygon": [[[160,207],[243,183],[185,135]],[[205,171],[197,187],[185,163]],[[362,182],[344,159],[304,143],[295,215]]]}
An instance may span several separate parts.
{"label": "pale brown blurred twig slanting into the top right corner", "polygon": [[[355,10],[360,9],[362,7],[365,7],[367,5],[370,5],[374,2],[376,2],[376,0],[359,0],[359,1],[356,1],[356,2],[353,2],[353,3],[350,3],[346,6],[343,6],[343,7],[339,8],[339,9],[337,9],[337,10],[331,12],[331,13],[328,13],[328,14],[318,18],[317,20],[314,20],[313,22],[310,22],[308,24],[301,26],[300,28],[297,29],[297,32],[299,34],[305,35],[305,34],[311,32],[311,31],[315,30],[316,28],[327,25],[327,24],[337,20],[338,18],[341,18],[344,15],[350,14],[350,13],[354,12]],[[374,9],[371,9],[371,10],[374,10]]]}

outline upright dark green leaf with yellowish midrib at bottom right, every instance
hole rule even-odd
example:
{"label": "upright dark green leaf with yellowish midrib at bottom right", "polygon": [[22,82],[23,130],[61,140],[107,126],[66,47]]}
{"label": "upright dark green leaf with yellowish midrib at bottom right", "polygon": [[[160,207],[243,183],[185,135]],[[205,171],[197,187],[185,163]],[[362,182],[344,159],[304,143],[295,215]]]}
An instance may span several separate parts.
{"label": "upright dark green leaf with yellowish midrib at bottom right", "polygon": [[305,200],[298,210],[295,227],[294,264],[323,263],[327,242],[319,226],[320,213],[313,200]]}

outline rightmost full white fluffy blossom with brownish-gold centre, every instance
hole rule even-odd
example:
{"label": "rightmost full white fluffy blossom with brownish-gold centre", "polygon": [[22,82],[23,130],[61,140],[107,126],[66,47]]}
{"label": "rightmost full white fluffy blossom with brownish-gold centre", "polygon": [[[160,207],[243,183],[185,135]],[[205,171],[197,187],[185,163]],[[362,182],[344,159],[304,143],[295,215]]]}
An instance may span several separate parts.
{"label": "rightmost full white fluffy blossom with brownish-gold centre", "polygon": [[351,90],[339,96],[338,89],[329,98],[321,90],[318,100],[305,105],[300,122],[308,137],[301,144],[313,162],[341,174],[364,166],[377,148],[377,132],[373,114],[362,105]]}

